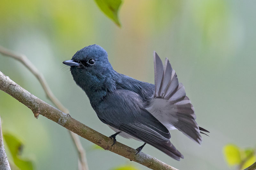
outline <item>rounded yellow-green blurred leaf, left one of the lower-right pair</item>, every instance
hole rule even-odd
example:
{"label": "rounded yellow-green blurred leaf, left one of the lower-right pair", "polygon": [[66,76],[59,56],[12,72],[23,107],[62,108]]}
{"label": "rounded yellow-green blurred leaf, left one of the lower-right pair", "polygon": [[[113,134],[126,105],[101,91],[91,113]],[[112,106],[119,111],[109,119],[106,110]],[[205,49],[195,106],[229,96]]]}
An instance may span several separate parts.
{"label": "rounded yellow-green blurred leaf, left one of the lower-right pair", "polygon": [[224,155],[229,166],[238,165],[241,163],[240,148],[234,144],[224,146]]}

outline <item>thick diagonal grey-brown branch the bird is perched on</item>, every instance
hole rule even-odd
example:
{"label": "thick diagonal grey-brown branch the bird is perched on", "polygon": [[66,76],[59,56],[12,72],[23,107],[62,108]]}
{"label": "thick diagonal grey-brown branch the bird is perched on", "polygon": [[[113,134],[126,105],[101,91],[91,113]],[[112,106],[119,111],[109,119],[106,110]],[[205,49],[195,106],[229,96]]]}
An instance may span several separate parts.
{"label": "thick diagonal grey-brown branch the bird is perched on", "polygon": [[35,117],[38,117],[39,114],[43,115],[48,119],[52,120],[53,122],[56,122],[61,126],[65,127],[66,129],[76,133],[77,135],[91,141],[94,144],[99,145],[105,150],[114,152],[151,169],[177,170],[176,168],[167,165],[164,162],[143,152],[139,152],[137,155],[135,155],[135,153],[137,152],[135,149],[132,149],[131,147],[121,144],[119,142],[116,142],[114,146],[111,146],[111,144],[113,143],[112,139],[73,119],[69,114],[65,114],[60,110],[47,104],[43,100],[40,100],[27,90],[20,87],[20,85],[13,82],[2,72],[0,72],[0,90],[8,93],[13,98],[30,108],[34,113]]}

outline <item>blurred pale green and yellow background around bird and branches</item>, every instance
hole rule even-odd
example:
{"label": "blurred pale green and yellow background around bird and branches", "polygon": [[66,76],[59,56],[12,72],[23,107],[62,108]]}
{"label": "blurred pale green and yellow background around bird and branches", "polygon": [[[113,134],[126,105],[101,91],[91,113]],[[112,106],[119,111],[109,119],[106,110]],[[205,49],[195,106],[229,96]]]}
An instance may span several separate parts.
{"label": "blurred pale green and yellow background around bird and branches", "polygon": [[[1,0],[0,45],[27,55],[71,116],[106,136],[114,132],[100,122],[62,62],[98,44],[116,71],[154,83],[153,50],[162,59],[168,57],[195,107],[197,123],[211,132],[210,137],[203,136],[199,146],[171,131],[172,143],[185,157],[180,162],[150,145],[143,152],[178,169],[228,169],[223,146],[252,147],[256,141],[255,5],[249,0],[124,0],[119,28],[93,0]],[[0,60],[0,71],[52,104],[21,63],[3,55]],[[36,169],[77,169],[76,150],[66,129],[43,116],[36,120],[31,110],[2,91],[0,115],[3,131],[20,138],[24,157],[32,159]],[[133,148],[142,144],[117,140]],[[83,138],[81,142],[91,170],[122,165],[148,169],[95,150]]]}

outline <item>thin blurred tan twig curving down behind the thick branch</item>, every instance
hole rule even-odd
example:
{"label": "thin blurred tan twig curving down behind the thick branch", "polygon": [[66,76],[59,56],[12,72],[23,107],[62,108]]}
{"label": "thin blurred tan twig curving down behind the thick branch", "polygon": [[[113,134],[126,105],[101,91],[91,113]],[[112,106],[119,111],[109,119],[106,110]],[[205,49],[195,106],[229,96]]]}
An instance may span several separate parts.
{"label": "thin blurred tan twig curving down behind the thick branch", "polygon": [[[44,76],[42,73],[39,72],[39,70],[36,68],[36,66],[34,66],[33,63],[31,63],[28,58],[26,57],[26,55],[22,55],[22,54],[17,54],[15,52],[12,52],[11,50],[4,48],[2,46],[0,46],[0,53],[9,57],[12,57],[18,61],[20,61],[23,65],[25,65],[28,70],[34,74],[34,76],[37,78],[37,80],[40,82],[40,84],[42,85],[44,92],[46,93],[46,96],[52,101],[52,103],[54,105],[57,106],[57,108],[59,108],[62,112],[69,114],[69,111],[66,107],[64,107],[60,101],[54,96],[54,94],[52,93],[52,90],[50,89],[49,85],[47,84]],[[72,138],[72,141],[74,142],[75,146],[76,146],[76,150],[78,153],[78,157],[79,157],[79,162],[80,162],[80,166],[82,170],[89,170],[88,168],[88,164],[87,164],[87,160],[86,160],[86,154],[84,151],[84,148],[78,138],[77,135],[75,135],[73,132],[68,131],[70,134],[70,137]]]}

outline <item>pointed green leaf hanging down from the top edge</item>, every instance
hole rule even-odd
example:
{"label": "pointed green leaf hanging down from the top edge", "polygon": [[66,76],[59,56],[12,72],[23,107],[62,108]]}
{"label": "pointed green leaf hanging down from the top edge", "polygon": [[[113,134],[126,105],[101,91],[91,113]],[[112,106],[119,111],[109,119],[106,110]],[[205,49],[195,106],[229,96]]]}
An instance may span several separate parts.
{"label": "pointed green leaf hanging down from the top edge", "polygon": [[108,16],[108,18],[112,19],[117,26],[121,27],[118,18],[118,11],[120,5],[122,4],[122,0],[94,0],[96,4],[99,6],[100,10]]}

